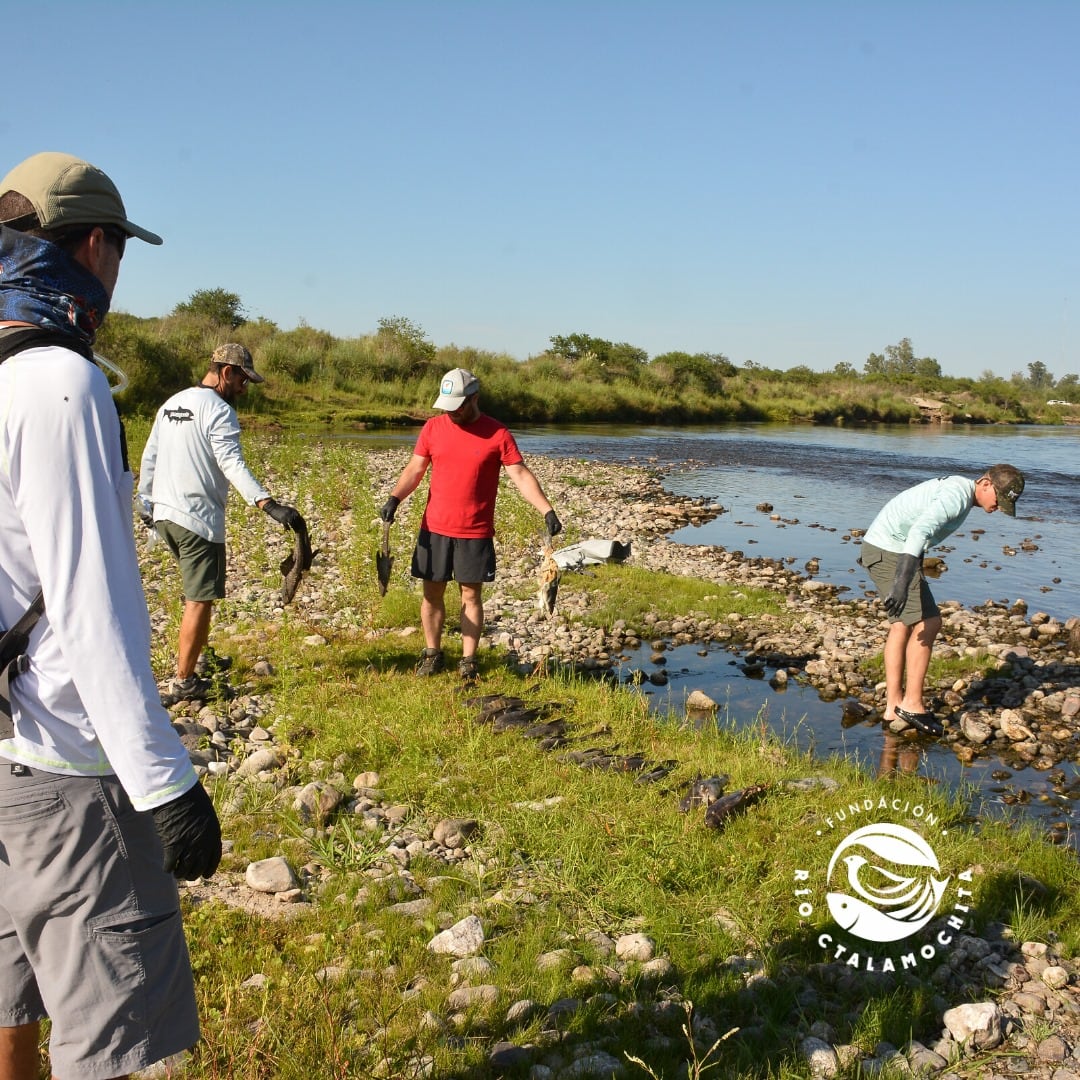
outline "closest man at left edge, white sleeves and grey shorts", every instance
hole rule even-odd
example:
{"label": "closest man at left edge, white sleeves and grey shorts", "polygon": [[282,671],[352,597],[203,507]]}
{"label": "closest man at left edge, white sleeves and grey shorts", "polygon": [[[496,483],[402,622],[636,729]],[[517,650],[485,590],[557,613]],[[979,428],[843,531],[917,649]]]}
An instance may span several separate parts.
{"label": "closest man at left edge, white sleeves and grey shorts", "polygon": [[[126,1076],[199,1038],[173,873],[221,858],[162,707],[132,474],[92,362],[129,239],[112,181],[39,153],[0,180],[0,626],[43,613],[0,714],[0,1078]],[[145,812],[149,811],[149,812]]]}

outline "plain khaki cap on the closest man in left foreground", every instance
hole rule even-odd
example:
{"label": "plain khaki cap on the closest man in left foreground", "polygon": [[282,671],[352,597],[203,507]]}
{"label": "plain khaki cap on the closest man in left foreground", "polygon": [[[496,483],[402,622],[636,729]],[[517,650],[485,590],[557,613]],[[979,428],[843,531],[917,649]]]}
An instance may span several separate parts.
{"label": "plain khaki cap on the closest man in left foreground", "polygon": [[0,180],[0,195],[9,191],[33,206],[42,229],[112,225],[148,244],[161,243],[156,232],[127,220],[120,192],[105,173],[69,153],[45,151],[27,158]]}

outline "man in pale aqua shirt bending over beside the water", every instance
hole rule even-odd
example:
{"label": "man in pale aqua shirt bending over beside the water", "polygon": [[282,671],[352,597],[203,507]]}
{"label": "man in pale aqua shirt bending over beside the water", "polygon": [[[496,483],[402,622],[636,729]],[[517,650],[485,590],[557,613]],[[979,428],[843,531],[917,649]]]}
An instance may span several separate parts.
{"label": "man in pale aqua shirt bending over beside the water", "polygon": [[1016,516],[1024,475],[990,465],[978,480],[940,476],[901,491],[882,507],[863,537],[859,562],[869,573],[892,620],[885,644],[885,723],[899,719],[924,734],[945,729],[927,710],[923,684],[941,610],[922,575],[922,557],[955,532],[974,507]]}

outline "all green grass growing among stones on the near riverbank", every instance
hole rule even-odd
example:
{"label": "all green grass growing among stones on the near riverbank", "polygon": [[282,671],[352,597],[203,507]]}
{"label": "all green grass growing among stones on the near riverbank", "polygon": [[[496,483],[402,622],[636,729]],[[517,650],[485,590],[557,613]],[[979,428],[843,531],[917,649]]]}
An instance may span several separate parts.
{"label": "all green grass growing among stones on the near riverbank", "polygon": [[[140,447],[146,429],[132,424],[130,437]],[[305,870],[311,907],[285,920],[185,901],[204,1030],[186,1072],[192,1080],[379,1070],[411,1078],[428,1058],[430,1075],[441,1080],[495,1080],[487,1056],[496,1040],[542,1039],[539,1018],[521,1030],[504,1022],[508,1005],[525,998],[546,1005],[588,997],[568,1021],[568,1045],[602,1042],[627,1075],[806,1077],[797,1047],[814,1020],[867,1050],[882,1039],[931,1036],[940,1027],[937,1003],[903,981],[854,980],[812,1008],[800,1001],[800,991],[816,985],[815,939],[827,913],[799,917],[793,873],[824,866],[835,846],[827,831],[818,835],[832,797],[784,786],[807,777],[835,779],[842,802],[888,795],[930,807],[948,825],[934,839],[943,864],[973,868],[975,930],[1003,921],[1021,940],[1056,935],[1066,955],[1080,948],[1075,853],[1027,825],[973,824],[962,794],[949,797],[927,780],[878,780],[855,762],[810,760],[753,717],[721,714],[716,724],[693,725],[657,716],[633,691],[604,683],[565,673],[523,678],[486,653],[483,692],[561,703],[572,746],[618,747],[676,766],[659,783],[636,784],[632,774],[583,769],[561,751],[492,732],[465,705],[453,676],[413,675],[415,636],[397,633],[416,622],[407,557],[422,499],[402,508],[393,530],[395,578],[380,597],[373,553],[384,492],[374,489],[364,456],[288,435],[245,436],[245,448],[256,475],[275,478],[275,495],[280,489],[282,500],[318,523],[319,536],[339,541],[333,580],[340,591],[319,621],[302,605],[267,618],[253,597],[276,589],[286,541],[261,515],[230,502],[230,561],[242,566],[249,588],[233,590],[215,611],[212,642],[237,658],[234,681],[251,679],[264,696],[269,713],[261,723],[272,727],[286,764],[275,784],[207,782],[231,841],[221,875],[242,878],[249,862],[283,854]],[[137,461],[137,449],[133,456]],[[503,542],[534,550],[536,513],[511,488],[499,513]],[[175,640],[177,576],[152,553],[145,576],[151,606],[168,613],[156,635],[154,663],[163,666]],[[782,596],[633,566],[567,579],[564,589],[589,594],[589,619],[598,625],[618,619],[644,625],[653,616],[785,618]],[[325,644],[307,644],[313,633]],[[274,674],[256,678],[257,657]],[[301,822],[293,810],[293,788],[320,780],[349,794],[353,778],[366,771],[379,773],[386,802],[408,808],[405,828],[426,833],[443,818],[480,823],[464,862],[413,860],[409,870],[432,902],[420,917],[388,910],[388,902],[407,897],[392,880],[372,876],[388,834],[367,829],[347,809],[321,822]],[[706,829],[700,810],[678,811],[679,795],[699,773],[726,774],[730,788],[764,783],[768,794],[723,832]],[[484,956],[494,964],[481,981],[498,986],[500,997],[495,1008],[457,1021],[446,1008],[450,961],[427,945],[468,914],[482,919]],[[672,975],[658,984],[630,967],[621,982],[590,997],[573,981],[573,967],[590,964],[599,977],[613,958],[588,935],[638,930],[671,960]],[[571,949],[572,960],[540,970],[538,958],[556,948]],[[731,956],[755,958],[767,976],[752,997],[727,962]],[[663,1007],[672,991],[693,1002],[696,1022],[707,1022],[693,1047],[683,1031],[683,1005]],[[721,1038],[731,1028],[741,1030]]]}

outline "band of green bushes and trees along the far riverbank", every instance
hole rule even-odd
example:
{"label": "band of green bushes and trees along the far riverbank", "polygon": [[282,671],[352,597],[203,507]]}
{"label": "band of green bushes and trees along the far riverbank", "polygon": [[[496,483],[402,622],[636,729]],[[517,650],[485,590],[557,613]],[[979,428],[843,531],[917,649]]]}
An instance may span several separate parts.
{"label": "band of green bushes and trees along the far riverbank", "polygon": [[[437,347],[402,315],[376,329],[338,338],[302,323],[282,330],[248,319],[241,298],[225,288],[200,289],[165,316],[114,312],[97,349],[130,383],[122,410],[147,414],[198,379],[213,349],[245,345],[270,379],[253,388],[244,408],[256,416],[327,426],[409,422],[430,411],[431,387],[450,367],[482,379],[487,407],[508,421],[718,423],[732,420],[814,423],[918,422],[913,401],[940,400],[937,418],[962,422],[1062,422],[1080,399],[1078,376],[1055,378],[1041,362],[1005,379],[945,375],[931,356],[916,356],[909,338],[872,352],[862,370],[840,362],[832,370],[738,366],[720,352],[671,351],[656,356],[629,342],[585,333],[557,334],[526,361],[458,346]],[[1078,410],[1080,411],[1080,410]]]}

